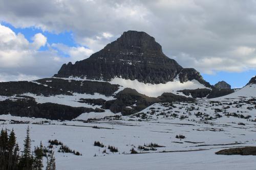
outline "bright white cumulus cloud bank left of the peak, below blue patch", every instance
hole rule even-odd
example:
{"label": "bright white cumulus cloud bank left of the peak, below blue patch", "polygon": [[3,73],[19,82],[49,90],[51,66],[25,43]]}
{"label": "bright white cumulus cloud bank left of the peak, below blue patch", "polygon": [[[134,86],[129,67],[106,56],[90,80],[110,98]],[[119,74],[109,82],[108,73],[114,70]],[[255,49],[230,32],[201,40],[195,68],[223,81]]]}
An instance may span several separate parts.
{"label": "bright white cumulus cloud bank left of the peak, below blue patch", "polygon": [[38,33],[32,40],[30,43],[23,34],[15,34],[10,28],[0,25],[0,82],[51,77],[63,63],[82,60],[93,53],[83,46],[69,47],[63,44],[52,44],[58,51],[52,49],[51,45],[48,51],[38,51],[46,45],[47,38]]}

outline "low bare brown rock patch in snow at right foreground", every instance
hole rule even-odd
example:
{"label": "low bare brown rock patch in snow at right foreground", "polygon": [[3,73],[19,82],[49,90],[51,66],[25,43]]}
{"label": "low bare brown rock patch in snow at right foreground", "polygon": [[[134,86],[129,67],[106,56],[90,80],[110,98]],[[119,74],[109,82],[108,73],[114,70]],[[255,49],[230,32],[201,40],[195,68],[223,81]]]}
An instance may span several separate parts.
{"label": "low bare brown rock patch in snow at right foreground", "polygon": [[216,152],[217,155],[256,155],[256,147],[230,148]]}

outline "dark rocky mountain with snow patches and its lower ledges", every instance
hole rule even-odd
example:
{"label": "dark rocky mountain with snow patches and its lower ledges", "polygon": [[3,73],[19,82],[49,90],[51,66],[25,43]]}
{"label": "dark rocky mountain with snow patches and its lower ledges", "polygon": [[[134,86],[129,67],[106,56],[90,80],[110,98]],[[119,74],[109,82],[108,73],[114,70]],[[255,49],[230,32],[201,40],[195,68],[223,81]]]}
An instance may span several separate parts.
{"label": "dark rocky mountain with snow patches and its lower ledges", "polygon": [[155,38],[127,31],[88,59],[63,64],[52,78],[1,82],[0,113],[49,119],[139,112],[154,103],[192,102],[232,93],[166,57]]}

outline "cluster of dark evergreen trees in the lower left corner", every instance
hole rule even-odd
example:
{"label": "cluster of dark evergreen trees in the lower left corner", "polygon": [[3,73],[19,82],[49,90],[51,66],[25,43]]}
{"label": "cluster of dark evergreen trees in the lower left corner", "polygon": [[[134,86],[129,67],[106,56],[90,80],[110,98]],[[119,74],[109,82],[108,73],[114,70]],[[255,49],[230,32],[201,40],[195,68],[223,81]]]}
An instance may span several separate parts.
{"label": "cluster of dark evergreen trees in the lower left corner", "polygon": [[54,152],[48,151],[40,142],[39,147],[31,151],[31,139],[29,127],[24,140],[24,150],[19,152],[18,143],[14,130],[9,134],[7,130],[1,130],[0,133],[0,170],[42,170],[43,157],[47,157],[46,170],[56,170]]}

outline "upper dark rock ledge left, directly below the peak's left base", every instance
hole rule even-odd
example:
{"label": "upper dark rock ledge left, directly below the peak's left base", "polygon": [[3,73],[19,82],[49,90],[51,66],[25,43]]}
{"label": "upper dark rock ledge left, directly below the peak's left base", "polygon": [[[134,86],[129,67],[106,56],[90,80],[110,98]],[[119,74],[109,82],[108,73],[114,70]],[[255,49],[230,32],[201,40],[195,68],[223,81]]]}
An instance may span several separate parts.
{"label": "upper dark rock ledge left, directly below the peak's left base", "polygon": [[0,82],[0,95],[11,96],[15,94],[33,93],[36,95],[72,95],[76,93],[100,93],[106,96],[112,95],[118,90],[119,85],[113,85],[108,82],[96,81],[75,81],[63,79],[40,79],[36,80],[40,84],[28,81],[20,82]]}

